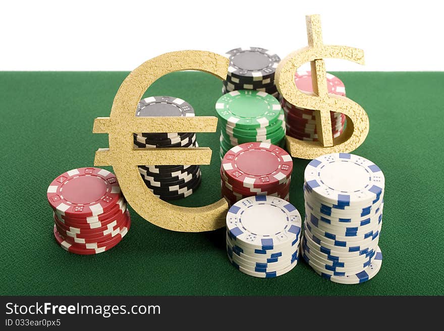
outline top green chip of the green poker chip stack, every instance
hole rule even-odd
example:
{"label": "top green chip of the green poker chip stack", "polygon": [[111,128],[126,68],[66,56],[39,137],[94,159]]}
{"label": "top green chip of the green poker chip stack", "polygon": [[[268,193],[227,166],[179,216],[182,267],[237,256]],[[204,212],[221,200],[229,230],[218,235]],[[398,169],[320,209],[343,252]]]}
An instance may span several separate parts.
{"label": "top green chip of the green poker chip stack", "polygon": [[216,102],[216,112],[228,125],[254,129],[266,127],[281,114],[278,99],[255,90],[238,90],[221,96]]}

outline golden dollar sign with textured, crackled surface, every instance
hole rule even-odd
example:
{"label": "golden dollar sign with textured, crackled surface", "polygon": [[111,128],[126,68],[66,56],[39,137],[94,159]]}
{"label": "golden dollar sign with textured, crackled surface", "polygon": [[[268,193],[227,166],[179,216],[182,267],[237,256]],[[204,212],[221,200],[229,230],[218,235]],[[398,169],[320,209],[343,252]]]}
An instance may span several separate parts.
{"label": "golden dollar sign with textured, crackled surface", "polygon": [[[319,142],[306,142],[287,136],[287,147],[293,157],[314,159],[329,153],[348,153],[361,145],[368,134],[369,121],[365,110],[356,102],[339,95],[328,94],[324,58],[340,58],[364,64],[364,51],[348,46],[324,45],[319,15],[306,16],[308,47],[290,53],[276,69],[276,85],[291,104],[315,110]],[[310,62],[313,95],[301,92],[295,85],[295,73]],[[344,133],[333,139],[330,111],[341,112],[347,118]]]}

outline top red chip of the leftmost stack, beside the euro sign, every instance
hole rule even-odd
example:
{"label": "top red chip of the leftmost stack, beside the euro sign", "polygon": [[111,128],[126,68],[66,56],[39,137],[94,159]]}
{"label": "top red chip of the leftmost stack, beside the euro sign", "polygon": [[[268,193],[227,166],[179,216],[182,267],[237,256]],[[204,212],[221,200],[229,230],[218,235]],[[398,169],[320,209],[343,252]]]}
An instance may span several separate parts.
{"label": "top red chip of the leftmost stack, beside the euro sign", "polygon": [[48,187],[50,206],[62,215],[84,218],[115,207],[120,186],[114,174],[100,168],[79,168],[55,178]]}

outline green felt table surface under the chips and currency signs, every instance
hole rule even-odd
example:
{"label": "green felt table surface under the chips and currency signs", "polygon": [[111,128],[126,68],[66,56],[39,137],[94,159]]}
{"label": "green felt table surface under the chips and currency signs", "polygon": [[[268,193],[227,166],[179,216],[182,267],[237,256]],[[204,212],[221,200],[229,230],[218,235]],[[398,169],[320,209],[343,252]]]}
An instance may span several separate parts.
{"label": "green felt table surface under the chips and currency signs", "polygon": [[[360,285],[331,283],[300,261],[290,273],[257,279],[235,270],[225,230],[180,233],[131,210],[132,227],[105,253],[64,251],[52,235],[46,189],[59,174],[92,166],[107,135],[92,134],[108,116],[128,73],[0,73],[0,294],[2,295],[434,295],[444,294],[442,161],[444,73],[336,73],[367,111],[370,132],[354,153],[385,174],[379,274]],[[146,95],[172,95],[197,115],[214,115],[221,82],[209,74],[162,77]],[[203,182],[177,204],[219,198],[218,134],[197,134],[213,150]],[[303,171],[295,159],[291,202],[304,214]],[[112,170],[111,167],[107,168]]]}

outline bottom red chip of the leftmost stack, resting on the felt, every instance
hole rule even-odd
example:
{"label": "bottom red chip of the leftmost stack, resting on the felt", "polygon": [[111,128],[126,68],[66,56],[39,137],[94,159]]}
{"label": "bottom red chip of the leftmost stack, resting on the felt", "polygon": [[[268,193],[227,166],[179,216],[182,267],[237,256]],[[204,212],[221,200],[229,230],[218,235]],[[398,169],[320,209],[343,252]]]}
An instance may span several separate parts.
{"label": "bottom red chip of the leftmost stack, resting on the felt", "polygon": [[129,229],[131,226],[131,219],[128,218],[128,222],[126,227],[124,227],[120,234],[116,235],[115,238],[113,238],[112,241],[108,240],[106,242],[106,244],[104,244],[105,242],[102,242],[100,244],[70,244],[69,242],[67,242],[66,240],[64,240],[63,236],[60,235],[60,233],[57,231],[57,228],[54,225],[53,228],[53,232],[54,232],[54,237],[55,240],[57,241],[57,243],[65,250],[71,252],[71,253],[75,253],[75,254],[81,254],[81,255],[91,255],[91,254],[98,254],[101,252],[104,252],[110,248],[113,248],[114,246],[116,246],[121,240],[122,238],[128,233]]}

